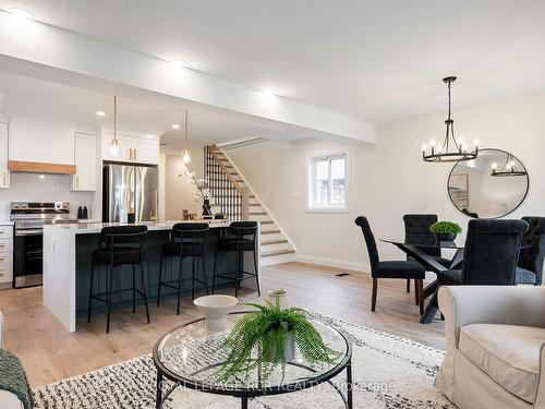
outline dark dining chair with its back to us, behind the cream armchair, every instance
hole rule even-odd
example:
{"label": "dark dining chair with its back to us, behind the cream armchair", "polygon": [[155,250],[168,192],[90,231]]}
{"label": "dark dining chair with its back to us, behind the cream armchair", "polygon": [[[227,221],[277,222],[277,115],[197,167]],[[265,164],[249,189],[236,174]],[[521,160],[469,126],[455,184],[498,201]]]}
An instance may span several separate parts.
{"label": "dark dining chair with its back to us, behind the cream armchair", "polygon": [[513,286],[524,220],[472,219],[461,269],[437,274],[439,285]]}

